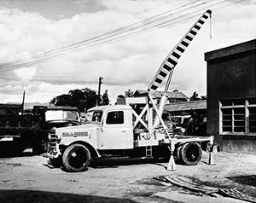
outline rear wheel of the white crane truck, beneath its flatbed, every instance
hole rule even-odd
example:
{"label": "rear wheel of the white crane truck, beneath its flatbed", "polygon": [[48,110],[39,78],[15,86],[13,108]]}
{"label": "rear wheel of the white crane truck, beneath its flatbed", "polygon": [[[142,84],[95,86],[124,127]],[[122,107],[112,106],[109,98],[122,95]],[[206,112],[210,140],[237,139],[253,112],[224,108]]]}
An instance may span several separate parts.
{"label": "rear wheel of the white crane truck, beneath its flatbed", "polygon": [[187,142],[177,148],[177,159],[184,165],[197,165],[201,160],[201,147],[196,142]]}

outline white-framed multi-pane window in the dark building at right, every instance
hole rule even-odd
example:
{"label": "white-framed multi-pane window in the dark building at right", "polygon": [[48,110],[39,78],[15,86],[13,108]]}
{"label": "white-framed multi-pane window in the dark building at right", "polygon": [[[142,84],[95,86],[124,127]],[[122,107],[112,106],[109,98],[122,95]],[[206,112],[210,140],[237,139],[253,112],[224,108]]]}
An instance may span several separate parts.
{"label": "white-framed multi-pane window in the dark building at right", "polygon": [[220,131],[256,135],[256,98],[220,101]]}

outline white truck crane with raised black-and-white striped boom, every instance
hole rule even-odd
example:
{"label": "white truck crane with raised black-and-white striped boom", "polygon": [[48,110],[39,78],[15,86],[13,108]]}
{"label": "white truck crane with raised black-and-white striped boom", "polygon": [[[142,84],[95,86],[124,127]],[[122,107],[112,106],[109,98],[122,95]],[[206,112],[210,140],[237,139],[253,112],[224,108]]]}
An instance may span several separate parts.
{"label": "white truck crane with raised black-and-white striped boom", "polygon": [[[175,135],[161,116],[174,67],[211,13],[207,10],[202,14],[166,56],[145,94],[119,98],[116,105],[90,108],[84,125],[52,128],[44,157],[73,172],[85,171],[91,159],[107,156],[153,156],[169,160],[167,169],[172,171],[176,170],[174,157],[185,165],[197,165],[202,154],[201,142],[213,145],[213,137]],[[152,92],[166,76],[166,89],[157,107]]]}

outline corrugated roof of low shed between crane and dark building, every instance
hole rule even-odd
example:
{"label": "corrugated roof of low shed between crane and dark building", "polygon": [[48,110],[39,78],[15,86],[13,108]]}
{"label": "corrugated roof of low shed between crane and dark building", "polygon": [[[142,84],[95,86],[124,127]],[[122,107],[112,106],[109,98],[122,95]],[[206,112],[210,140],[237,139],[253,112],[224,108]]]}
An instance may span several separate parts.
{"label": "corrugated roof of low shed between crane and dark building", "polygon": [[177,112],[177,111],[189,111],[207,109],[207,100],[190,101],[190,102],[174,102],[166,104],[165,111]]}

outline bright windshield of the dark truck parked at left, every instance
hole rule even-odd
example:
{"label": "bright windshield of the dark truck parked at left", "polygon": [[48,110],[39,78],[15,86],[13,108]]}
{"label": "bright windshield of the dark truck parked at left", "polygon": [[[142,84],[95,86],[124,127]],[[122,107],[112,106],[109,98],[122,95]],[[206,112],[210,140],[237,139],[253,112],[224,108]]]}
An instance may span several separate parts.
{"label": "bright windshield of the dark truck parked at left", "polygon": [[64,110],[49,110],[45,112],[45,121],[49,120],[76,120],[79,121],[79,113]]}

